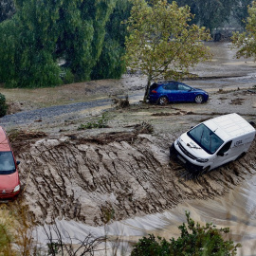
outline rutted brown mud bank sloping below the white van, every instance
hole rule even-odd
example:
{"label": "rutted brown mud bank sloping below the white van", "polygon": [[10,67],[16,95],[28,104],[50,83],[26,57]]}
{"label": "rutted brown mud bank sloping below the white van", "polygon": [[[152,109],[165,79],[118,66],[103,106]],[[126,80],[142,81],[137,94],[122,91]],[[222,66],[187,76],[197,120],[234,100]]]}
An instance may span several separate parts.
{"label": "rutted brown mud bank sloping below the white van", "polygon": [[161,212],[194,198],[223,195],[255,174],[256,143],[242,159],[197,180],[178,176],[182,169],[169,160],[168,143],[151,135],[99,144],[81,138],[43,138],[31,141],[17,155],[21,180],[31,174],[24,204],[42,224],[52,217],[88,225]]}

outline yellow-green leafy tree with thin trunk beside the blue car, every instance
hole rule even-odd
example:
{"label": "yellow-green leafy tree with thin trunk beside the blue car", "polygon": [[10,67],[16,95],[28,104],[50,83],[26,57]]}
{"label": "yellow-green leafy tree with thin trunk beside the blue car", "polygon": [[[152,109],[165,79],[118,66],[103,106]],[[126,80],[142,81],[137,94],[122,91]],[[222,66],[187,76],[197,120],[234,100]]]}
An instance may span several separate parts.
{"label": "yellow-green leafy tree with thin trunk beside the blue car", "polygon": [[190,76],[189,67],[210,58],[209,49],[201,42],[210,35],[205,28],[188,24],[192,20],[188,6],[178,8],[166,0],[153,6],[145,0],[133,2],[125,59],[130,68],[147,76],[146,101],[152,81]]}

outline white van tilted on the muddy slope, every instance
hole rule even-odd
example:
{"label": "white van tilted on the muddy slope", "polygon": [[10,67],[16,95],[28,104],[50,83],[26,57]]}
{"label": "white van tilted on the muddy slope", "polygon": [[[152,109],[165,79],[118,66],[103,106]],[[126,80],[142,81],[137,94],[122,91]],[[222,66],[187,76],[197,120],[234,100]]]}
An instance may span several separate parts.
{"label": "white van tilted on the muddy slope", "polygon": [[170,156],[175,155],[189,171],[207,173],[245,155],[255,132],[235,113],[209,119],[178,137]]}

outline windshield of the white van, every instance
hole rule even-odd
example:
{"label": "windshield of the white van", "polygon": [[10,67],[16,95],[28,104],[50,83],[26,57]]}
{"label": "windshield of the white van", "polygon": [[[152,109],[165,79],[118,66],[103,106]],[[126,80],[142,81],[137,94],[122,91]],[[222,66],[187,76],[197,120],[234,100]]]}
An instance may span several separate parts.
{"label": "windshield of the white van", "polygon": [[215,153],[224,142],[203,123],[189,131],[188,136],[210,155]]}

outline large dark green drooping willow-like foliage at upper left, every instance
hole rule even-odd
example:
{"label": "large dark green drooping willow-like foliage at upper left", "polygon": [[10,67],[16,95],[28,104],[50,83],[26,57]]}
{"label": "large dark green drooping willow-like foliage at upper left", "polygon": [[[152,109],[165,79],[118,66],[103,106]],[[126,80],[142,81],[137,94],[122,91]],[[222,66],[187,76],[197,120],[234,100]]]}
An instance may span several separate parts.
{"label": "large dark green drooping willow-like foliage at upper left", "polygon": [[16,14],[0,25],[0,81],[34,87],[62,83],[60,74],[64,81],[89,80],[116,3],[16,0]]}

